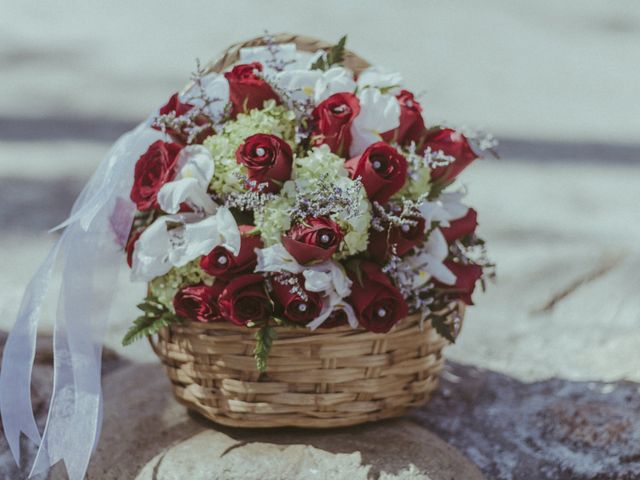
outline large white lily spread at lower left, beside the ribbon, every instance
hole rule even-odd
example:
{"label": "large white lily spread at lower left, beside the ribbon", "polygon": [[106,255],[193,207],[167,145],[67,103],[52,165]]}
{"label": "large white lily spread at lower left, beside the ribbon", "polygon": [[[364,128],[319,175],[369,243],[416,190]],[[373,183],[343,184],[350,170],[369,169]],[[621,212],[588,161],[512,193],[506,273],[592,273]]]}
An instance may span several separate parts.
{"label": "large white lily spread at lower left, beside the ribbon", "polygon": [[240,251],[240,231],[226,207],[204,219],[194,213],[162,216],[135,243],[131,279],[148,282],[218,245],[236,255]]}

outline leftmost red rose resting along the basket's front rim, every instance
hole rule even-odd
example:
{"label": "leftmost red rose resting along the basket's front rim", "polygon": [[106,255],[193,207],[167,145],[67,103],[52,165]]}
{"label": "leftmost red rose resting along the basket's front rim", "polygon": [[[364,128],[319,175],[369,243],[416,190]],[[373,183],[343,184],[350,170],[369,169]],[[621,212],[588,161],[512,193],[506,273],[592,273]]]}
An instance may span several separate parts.
{"label": "leftmost red rose resting along the basket's front rim", "polygon": [[222,320],[218,297],[224,287],[224,283],[216,282],[212,286],[199,284],[181,288],[173,297],[176,315],[203,323]]}

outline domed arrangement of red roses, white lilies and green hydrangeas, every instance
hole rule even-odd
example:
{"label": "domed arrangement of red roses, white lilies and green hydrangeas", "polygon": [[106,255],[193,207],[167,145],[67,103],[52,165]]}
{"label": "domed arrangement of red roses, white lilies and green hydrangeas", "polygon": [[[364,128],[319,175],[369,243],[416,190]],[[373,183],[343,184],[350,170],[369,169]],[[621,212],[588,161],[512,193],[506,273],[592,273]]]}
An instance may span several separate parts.
{"label": "domed arrangement of red roses, white lilies and green hydrangeas", "polygon": [[182,322],[388,332],[419,313],[454,341],[457,302],[493,273],[458,175],[492,137],[427,126],[402,77],[293,44],[202,68],[160,108],[135,165],[126,241],[148,282],[124,343]]}

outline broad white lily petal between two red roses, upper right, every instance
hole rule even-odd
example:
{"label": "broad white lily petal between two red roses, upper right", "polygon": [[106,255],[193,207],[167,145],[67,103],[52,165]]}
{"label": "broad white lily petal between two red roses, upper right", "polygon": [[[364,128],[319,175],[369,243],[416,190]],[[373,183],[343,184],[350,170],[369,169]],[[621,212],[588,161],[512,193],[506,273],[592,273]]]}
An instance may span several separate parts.
{"label": "broad white lily petal between two red roses, upper right", "polygon": [[372,143],[382,139],[381,133],[400,124],[400,104],[395,96],[377,88],[365,88],[358,93],[360,113],[351,124],[352,157],[360,155]]}

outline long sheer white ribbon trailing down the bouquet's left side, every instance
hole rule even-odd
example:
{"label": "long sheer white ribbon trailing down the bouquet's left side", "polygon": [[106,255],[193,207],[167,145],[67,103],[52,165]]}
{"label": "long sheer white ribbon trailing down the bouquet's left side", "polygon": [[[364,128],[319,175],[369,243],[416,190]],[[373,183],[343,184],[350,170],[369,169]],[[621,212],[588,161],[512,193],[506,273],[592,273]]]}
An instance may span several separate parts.
{"label": "long sheer white ribbon trailing down the bouquet's left side", "polygon": [[[56,228],[65,230],[27,286],[7,339],[0,370],[0,413],[16,463],[21,432],[40,444],[30,477],[63,460],[69,478],[82,480],[96,446],[102,423],[102,342],[123,265],[117,240],[126,238],[133,221],[129,191],[135,162],[161,137],[150,124],[149,119],[115,143],[69,218]],[[62,283],[53,336],[53,394],[41,439],[31,405],[31,371],[41,308],[58,266]]]}

